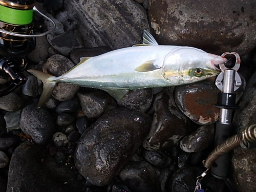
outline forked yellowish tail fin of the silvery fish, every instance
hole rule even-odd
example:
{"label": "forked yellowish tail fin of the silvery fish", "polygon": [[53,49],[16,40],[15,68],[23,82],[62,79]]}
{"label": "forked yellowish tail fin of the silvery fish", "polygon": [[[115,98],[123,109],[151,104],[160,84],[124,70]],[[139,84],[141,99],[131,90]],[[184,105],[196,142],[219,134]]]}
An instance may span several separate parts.
{"label": "forked yellowish tail fin of the silvery fish", "polygon": [[44,89],[42,90],[42,94],[37,104],[38,108],[40,108],[50,98],[52,91],[56,86],[57,77],[34,69],[30,69],[28,72],[36,76],[44,84]]}

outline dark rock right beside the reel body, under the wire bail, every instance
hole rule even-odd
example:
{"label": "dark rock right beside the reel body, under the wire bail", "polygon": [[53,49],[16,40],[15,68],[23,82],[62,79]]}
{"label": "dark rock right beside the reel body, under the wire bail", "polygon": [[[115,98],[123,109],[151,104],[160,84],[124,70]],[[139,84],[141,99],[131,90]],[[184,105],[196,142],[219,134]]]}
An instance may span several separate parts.
{"label": "dark rock right beside the reel body, under the wire bail", "polygon": [[48,48],[50,46],[46,36],[36,37],[35,49],[28,54],[28,58],[36,63],[40,60],[46,60],[49,57]]}

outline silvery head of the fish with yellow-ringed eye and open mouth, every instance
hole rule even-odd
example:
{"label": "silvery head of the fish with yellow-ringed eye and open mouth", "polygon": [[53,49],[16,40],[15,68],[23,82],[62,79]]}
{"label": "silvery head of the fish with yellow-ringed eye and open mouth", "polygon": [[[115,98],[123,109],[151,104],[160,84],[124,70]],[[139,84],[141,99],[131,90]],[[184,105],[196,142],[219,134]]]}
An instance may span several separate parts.
{"label": "silvery head of the fish with yellow-ringed eye and open mouth", "polygon": [[217,66],[226,61],[225,57],[197,48],[177,47],[164,58],[163,77],[177,85],[201,81],[219,74]]}

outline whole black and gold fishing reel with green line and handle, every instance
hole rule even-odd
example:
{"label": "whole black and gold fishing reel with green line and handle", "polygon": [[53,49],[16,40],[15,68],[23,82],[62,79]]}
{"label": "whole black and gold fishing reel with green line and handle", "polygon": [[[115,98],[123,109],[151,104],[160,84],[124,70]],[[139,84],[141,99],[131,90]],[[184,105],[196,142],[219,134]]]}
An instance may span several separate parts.
{"label": "whole black and gold fishing reel with green line and handle", "polygon": [[[36,33],[34,13],[49,20],[53,27]],[[35,49],[35,37],[44,36],[54,29],[53,20],[35,8],[34,0],[0,0],[0,79],[12,79],[11,83],[0,84],[0,97],[26,82],[23,74],[27,64],[25,56]]]}

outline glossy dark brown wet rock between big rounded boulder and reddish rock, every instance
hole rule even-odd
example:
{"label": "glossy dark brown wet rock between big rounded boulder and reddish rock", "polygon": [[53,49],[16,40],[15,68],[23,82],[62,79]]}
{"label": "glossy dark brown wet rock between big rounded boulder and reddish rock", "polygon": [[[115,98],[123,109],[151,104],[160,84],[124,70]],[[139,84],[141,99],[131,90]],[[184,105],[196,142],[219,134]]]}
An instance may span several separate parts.
{"label": "glossy dark brown wet rock between big rounded boulder and reddish rock", "polygon": [[143,147],[147,150],[170,150],[190,131],[188,118],[179,112],[175,105],[169,108],[169,101],[167,93],[160,93],[153,102],[151,131],[143,142]]}

